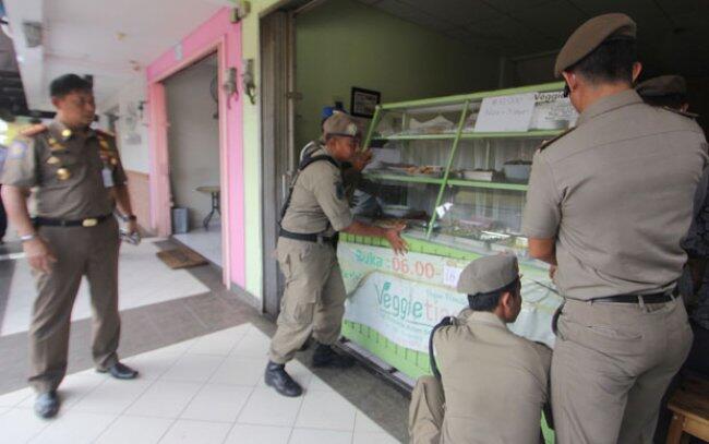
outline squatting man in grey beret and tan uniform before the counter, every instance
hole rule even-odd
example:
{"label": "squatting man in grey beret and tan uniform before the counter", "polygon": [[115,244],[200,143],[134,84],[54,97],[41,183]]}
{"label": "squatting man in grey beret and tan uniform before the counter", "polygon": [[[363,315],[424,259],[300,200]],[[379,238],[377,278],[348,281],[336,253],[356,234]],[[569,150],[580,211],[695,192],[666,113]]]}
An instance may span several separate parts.
{"label": "squatting man in grey beret and tan uniform before the counter", "polygon": [[484,256],[462,271],[458,292],[470,309],[432,332],[441,382],[424,376],[413,388],[412,444],[539,442],[552,352],[505,325],[519,314],[520,288],[513,255]]}

